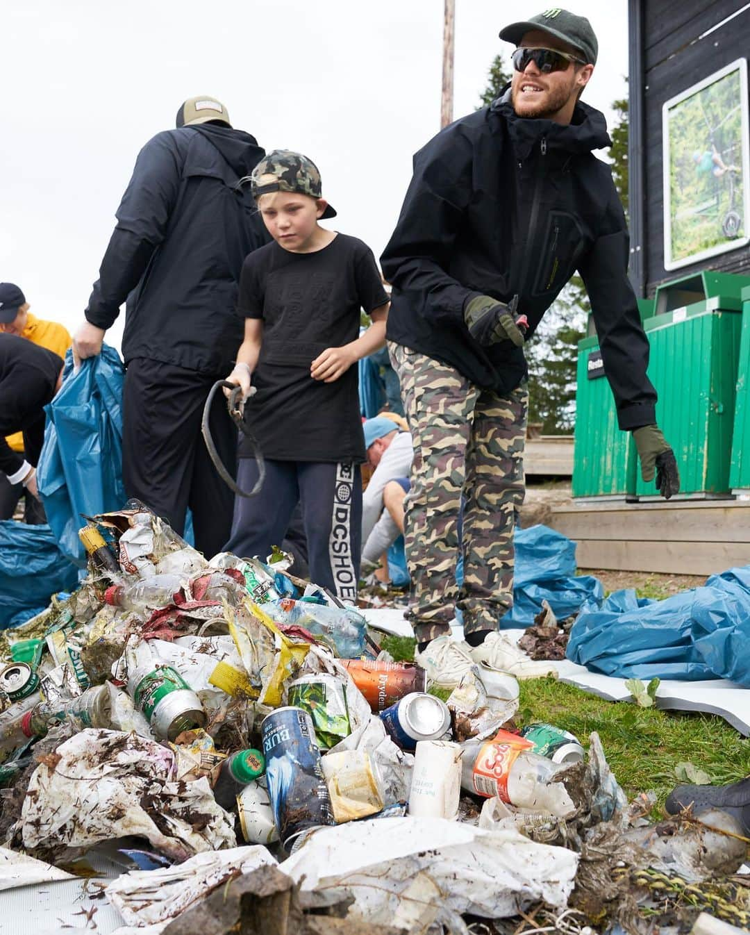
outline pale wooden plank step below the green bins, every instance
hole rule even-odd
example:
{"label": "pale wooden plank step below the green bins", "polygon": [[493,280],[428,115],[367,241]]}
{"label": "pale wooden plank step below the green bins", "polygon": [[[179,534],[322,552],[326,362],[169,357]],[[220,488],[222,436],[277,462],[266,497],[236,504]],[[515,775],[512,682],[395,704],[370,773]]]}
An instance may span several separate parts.
{"label": "pale wooden plank step below the green bins", "polygon": [[579,568],[710,575],[750,564],[750,500],[573,503],[550,525],[578,543]]}

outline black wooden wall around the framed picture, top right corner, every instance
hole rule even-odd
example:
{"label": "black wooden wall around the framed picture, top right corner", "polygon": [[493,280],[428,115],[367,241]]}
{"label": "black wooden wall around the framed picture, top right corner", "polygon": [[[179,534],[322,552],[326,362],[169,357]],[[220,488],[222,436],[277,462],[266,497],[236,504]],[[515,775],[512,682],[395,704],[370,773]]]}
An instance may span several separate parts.
{"label": "black wooden wall around the framed picture, top right corner", "polygon": [[750,58],[750,3],[628,0],[628,15],[630,279],[636,294],[651,297],[660,282],[699,269],[746,275],[750,245],[665,270],[661,108],[724,65]]}

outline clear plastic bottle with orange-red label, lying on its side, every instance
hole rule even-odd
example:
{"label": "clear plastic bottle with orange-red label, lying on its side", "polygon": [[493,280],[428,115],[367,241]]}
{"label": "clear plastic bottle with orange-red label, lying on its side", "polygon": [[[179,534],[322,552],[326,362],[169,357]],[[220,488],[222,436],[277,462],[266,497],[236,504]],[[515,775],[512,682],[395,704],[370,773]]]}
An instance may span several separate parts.
{"label": "clear plastic bottle with orange-red label, lying on its side", "polygon": [[501,730],[494,738],[461,744],[461,785],[474,795],[567,818],[575,812],[568,790],[554,783],[565,767],[531,753],[523,737]]}

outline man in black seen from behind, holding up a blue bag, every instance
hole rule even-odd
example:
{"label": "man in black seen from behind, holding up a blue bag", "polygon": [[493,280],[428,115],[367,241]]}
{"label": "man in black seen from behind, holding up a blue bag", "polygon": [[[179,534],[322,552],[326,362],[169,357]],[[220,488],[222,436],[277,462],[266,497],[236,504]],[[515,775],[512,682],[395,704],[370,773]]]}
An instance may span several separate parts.
{"label": "man in black seen from behind, holding up a blue bag", "polygon": [[[249,186],[238,185],[264,155],[254,137],[232,128],[219,101],[185,101],[177,129],[157,134],[138,154],[73,342],[79,358],[98,353],[127,300],[125,490],[180,533],[190,507],[195,545],[207,555],[229,537],[234,495],[209,460],[201,415],[242,341],[242,262],[267,242]],[[232,469],[237,432],[223,396],[210,428]]]}

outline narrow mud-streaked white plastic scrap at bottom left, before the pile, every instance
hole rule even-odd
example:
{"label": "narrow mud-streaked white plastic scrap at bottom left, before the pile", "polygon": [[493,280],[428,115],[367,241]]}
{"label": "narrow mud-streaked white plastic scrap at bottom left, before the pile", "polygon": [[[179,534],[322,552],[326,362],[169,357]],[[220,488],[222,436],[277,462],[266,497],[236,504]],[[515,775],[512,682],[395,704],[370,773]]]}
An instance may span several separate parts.
{"label": "narrow mud-streaked white plastic scrap at bottom left, before the pile", "polygon": [[276,864],[266,847],[255,844],[225,851],[196,854],[163,870],[131,870],[106,889],[107,899],[129,926],[168,922],[212,889],[240,873]]}

